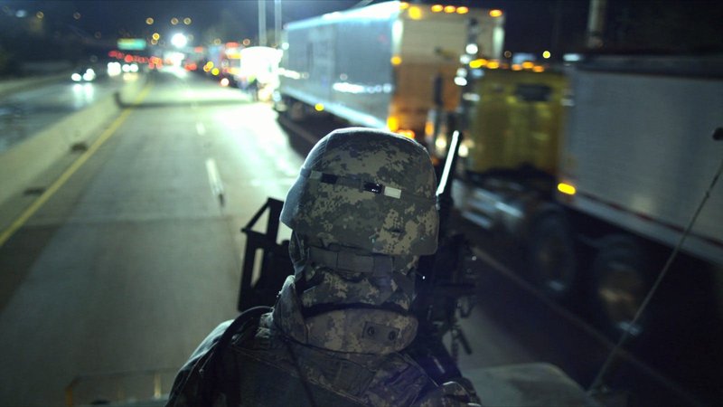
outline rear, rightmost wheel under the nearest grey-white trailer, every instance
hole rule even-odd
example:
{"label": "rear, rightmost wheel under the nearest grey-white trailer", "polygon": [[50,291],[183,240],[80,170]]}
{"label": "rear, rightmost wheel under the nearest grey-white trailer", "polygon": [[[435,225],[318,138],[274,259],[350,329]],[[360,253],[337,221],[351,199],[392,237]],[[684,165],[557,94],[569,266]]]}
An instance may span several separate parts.
{"label": "rear, rightmost wheel under the nearest grey-white trailer", "polygon": [[643,249],[632,236],[610,235],[600,241],[592,263],[593,311],[606,332],[618,337],[643,332],[641,321],[633,318],[650,286]]}

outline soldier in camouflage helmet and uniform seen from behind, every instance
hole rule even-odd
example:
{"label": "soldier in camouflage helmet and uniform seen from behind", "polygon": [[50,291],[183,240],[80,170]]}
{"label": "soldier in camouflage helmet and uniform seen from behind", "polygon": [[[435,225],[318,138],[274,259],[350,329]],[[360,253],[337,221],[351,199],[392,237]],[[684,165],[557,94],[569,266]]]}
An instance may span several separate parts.
{"label": "soldier in camouflage helmet and uniform seen from behind", "polygon": [[368,128],[322,138],[281,212],[295,274],[274,308],[211,332],[167,405],[475,405],[405,353],[418,327],[414,270],[437,251],[436,185],[409,138]]}

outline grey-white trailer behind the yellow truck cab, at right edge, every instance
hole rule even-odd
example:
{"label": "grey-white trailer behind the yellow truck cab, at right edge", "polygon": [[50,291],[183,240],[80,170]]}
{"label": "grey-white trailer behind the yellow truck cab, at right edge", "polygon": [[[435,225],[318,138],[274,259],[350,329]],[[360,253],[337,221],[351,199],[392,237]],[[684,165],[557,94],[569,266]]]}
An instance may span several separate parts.
{"label": "grey-white trailer behind the yellow truck cab, at right edge", "polygon": [[[723,59],[598,58],[571,90],[561,202],[674,247],[723,160]],[[723,186],[682,250],[723,265]]]}

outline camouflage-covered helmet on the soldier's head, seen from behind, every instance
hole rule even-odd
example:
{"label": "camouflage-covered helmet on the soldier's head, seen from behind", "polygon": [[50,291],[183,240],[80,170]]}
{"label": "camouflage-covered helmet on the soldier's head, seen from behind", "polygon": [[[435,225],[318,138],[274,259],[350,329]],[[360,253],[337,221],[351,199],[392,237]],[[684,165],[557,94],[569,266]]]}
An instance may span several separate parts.
{"label": "camouflage-covered helmet on the soldier's head, seen from behind", "polygon": [[[335,177],[335,183],[324,181]],[[436,188],[427,150],[416,141],[370,128],[335,130],[306,157],[281,222],[324,246],[433,254]]]}

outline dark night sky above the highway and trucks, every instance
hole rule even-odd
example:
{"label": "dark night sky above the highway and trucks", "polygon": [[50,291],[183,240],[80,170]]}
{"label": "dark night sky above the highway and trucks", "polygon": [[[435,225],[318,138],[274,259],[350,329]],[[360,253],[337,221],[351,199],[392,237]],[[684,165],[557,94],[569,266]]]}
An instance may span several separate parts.
{"label": "dark night sky above the highway and trucks", "polygon": [[[282,23],[379,0],[282,0]],[[436,1],[411,2],[434,4]],[[440,4],[500,8],[505,13],[505,49],[512,52],[577,52],[584,48],[589,0],[450,0]],[[0,20],[24,9],[37,11],[55,33],[71,32],[91,40],[114,42],[118,36],[159,32],[192,33],[195,43],[254,40],[258,37],[258,1],[6,1]],[[267,0],[267,28],[274,28],[274,1]],[[80,13],[80,19],[73,13]],[[608,45],[623,49],[677,48],[723,51],[723,2],[715,0],[607,0]],[[192,18],[190,26],[171,25],[172,17]],[[146,17],[155,24],[146,25]],[[2,22],[0,22],[2,23]],[[2,30],[2,28],[0,28]],[[57,35],[57,34],[56,34]],[[690,51],[690,50],[689,50]]]}

